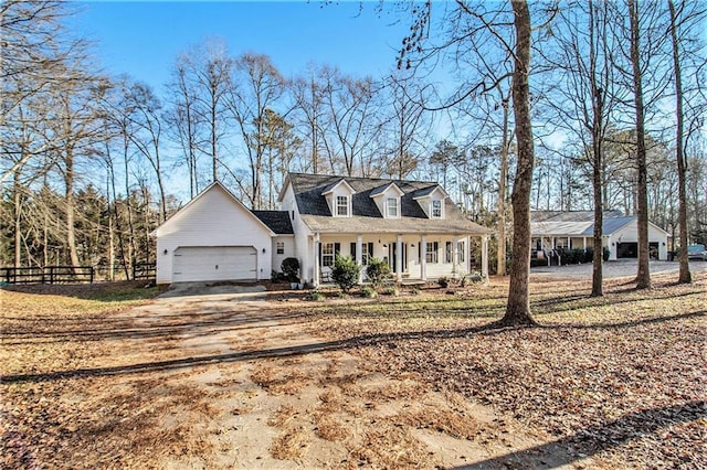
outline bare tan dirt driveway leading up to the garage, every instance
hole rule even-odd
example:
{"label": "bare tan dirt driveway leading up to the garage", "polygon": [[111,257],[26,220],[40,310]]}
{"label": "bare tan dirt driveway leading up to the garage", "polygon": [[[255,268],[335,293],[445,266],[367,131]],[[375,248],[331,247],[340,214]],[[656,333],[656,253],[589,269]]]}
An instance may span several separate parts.
{"label": "bare tan dirt driveway leading up to the garage", "polygon": [[[139,325],[197,312],[218,324],[176,338],[172,348],[197,370],[163,383],[202,395],[209,419],[201,432],[211,451],[166,456],[159,467],[506,468],[511,461],[555,467],[552,452],[521,452],[547,436],[462,395],[433,389],[415,374],[389,376],[341,344],[310,335],[303,328],[306,317],[278,313],[282,307],[264,293],[168,292],[131,312]],[[193,421],[193,410],[173,414],[168,427],[172,420]],[[504,456],[511,456],[508,462],[494,462]]]}

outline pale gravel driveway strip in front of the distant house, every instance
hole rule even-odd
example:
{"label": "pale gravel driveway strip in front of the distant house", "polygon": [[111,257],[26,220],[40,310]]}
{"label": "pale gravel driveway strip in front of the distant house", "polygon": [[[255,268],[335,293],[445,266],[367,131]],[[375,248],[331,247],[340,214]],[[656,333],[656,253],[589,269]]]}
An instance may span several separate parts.
{"label": "pale gravel driveway strip in front of the distant house", "polygon": [[[677,273],[679,264],[677,261],[651,261],[651,274],[658,273]],[[692,273],[707,270],[707,263],[690,261],[689,269]],[[604,279],[635,276],[639,270],[636,259],[620,259],[616,261],[605,261],[603,268]],[[574,279],[591,279],[592,265],[569,265],[569,266],[546,266],[530,269],[531,275],[563,277]]]}

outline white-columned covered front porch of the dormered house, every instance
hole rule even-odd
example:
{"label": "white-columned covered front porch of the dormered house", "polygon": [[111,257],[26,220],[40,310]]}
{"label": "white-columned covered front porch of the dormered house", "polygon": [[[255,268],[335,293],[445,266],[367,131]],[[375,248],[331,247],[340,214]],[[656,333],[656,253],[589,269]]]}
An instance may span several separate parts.
{"label": "white-columned covered front porch of the dormered house", "polygon": [[[481,238],[481,266],[472,264],[471,239]],[[350,256],[361,266],[365,282],[371,258],[390,267],[401,284],[424,282],[441,277],[462,278],[474,270],[488,277],[488,234],[331,234],[312,236],[315,285],[330,281],[336,255]]]}

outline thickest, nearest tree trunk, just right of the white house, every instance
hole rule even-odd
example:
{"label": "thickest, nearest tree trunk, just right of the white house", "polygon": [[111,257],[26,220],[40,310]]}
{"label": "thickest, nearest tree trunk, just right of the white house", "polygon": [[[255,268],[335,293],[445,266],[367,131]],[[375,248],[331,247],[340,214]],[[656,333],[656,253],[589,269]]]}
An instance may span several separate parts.
{"label": "thickest, nearest tree trunk, just right of the white house", "polygon": [[516,54],[513,74],[513,109],[516,119],[518,163],[513,188],[513,267],[506,314],[500,320],[507,325],[535,324],[530,317],[530,189],[535,153],[528,74],[530,71],[530,12],[526,0],[513,0],[516,30]]}

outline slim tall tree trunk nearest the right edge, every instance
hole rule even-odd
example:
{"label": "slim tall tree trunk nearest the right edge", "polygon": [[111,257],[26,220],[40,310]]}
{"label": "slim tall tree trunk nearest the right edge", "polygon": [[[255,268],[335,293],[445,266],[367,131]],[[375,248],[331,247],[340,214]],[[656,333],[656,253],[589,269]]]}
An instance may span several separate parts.
{"label": "slim tall tree trunk nearest the right edge", "polygon": [[[680,227],[680,268],[677,281],[679,284],[689,284],[693,281],[693,275],[689,271],[689,264],[687,259],[687,196],[685,190],[685,151],[683,146],[683,77],[679,61],[679,43],[677,40],[677,15],[675,13],[675,4],[673,3],[673,0],[667,0],[667,4],[671,9],[671,38],[673,40],[673,65],[675,71],[675,157],[677,159],[677,216]],[[673,237],[673,245],[675,245],[675,237]]]}

